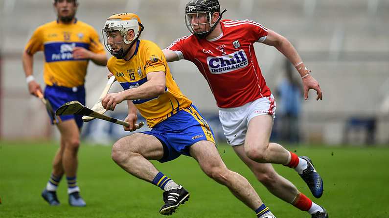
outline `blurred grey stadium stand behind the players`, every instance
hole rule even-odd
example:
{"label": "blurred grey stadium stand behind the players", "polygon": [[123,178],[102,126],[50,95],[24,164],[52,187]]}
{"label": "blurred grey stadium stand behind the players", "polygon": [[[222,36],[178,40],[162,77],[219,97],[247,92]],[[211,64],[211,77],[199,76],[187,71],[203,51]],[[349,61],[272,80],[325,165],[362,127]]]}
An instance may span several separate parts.
{"label": "blurred grey stadium stand behind the players", "polygon": [[[36,139],[55,137],[42,103],[27,92],[21,55],[32,31],[54,20],[51,0],[0,0],[0,137]],[[143,39],[161,48],[188,34],[183,9],[186,0],[79,0],[77,18],[99,31],[107,17],[137,13],[145,26]],[[389,0],[220,0],[224,18],[255,20],[287,37],[313,76],[320,81],[323,101],[310,93],[303,103],[301,134],[305,142],[341,144],[353,119],[375,120],[375,143],[389,144]],[[100,33],[101,37],[101,33]],[[283,56],[260,43],[255,50],[262,73],[275,91],[284,76]],[[107,54],[109,55],[109,54]],[[34,76],[43,84],[43,53],[35,55]],[[194,64],[169,64],[183,93],[212,119],[222,137],[217,107],[205,79]],[[106,83],[106,68],[89,65],[87,106],[92,106]],[[114,91],[119,91],[116,84]],[[282,105],[278,104],[278,107]],[[111,114],[124,118],[121,105]],[[215,120],[216,118],[216,120]],[[351,120],[351,121],[350,121]],[[348,143],[365,143],[366,126],[355,124]],[[84,139],[106,143],[125,134],[118,125],[92,121]],[[220,137],[219,137],[220,138]]]}

